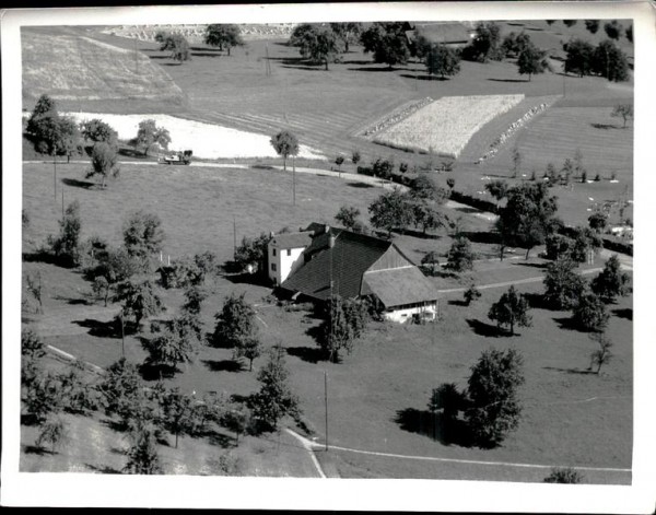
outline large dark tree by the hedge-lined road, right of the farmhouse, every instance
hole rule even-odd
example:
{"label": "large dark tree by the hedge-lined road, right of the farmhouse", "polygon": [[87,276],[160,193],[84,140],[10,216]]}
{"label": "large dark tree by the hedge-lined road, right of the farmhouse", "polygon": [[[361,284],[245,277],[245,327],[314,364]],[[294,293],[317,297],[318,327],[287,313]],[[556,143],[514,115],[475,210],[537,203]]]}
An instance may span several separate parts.
{"label": "large dark tree by the hedge-lined road, right of the farmhouse", "polygon": [[544,184],[522,184],[507,191],[506,206],[500,210],[496,229],[508,246],[530,249],[544,243],[557,223],[558,204]]}

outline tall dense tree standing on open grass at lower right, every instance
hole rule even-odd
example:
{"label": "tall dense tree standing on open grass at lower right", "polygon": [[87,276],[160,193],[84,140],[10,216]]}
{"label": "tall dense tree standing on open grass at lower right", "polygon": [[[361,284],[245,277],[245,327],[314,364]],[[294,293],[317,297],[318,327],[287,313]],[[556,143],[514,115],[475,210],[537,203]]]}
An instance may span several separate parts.
{"label": "tall dense tree standing on open grass at lower right", "polygon": [[519,423],[522,405],[517,390],[524,384],[524,359],[514,349],[482,352],[471,367],[467,396],[470,408],[465,411],[478,445],[494,447]]}

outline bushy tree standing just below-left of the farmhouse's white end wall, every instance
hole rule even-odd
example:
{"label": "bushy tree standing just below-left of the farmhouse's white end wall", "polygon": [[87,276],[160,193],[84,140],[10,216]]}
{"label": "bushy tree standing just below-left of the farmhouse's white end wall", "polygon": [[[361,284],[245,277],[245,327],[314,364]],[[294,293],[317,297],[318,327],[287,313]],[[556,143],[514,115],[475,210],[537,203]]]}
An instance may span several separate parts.
{"label": "bushy tree standing just below-left of the farmhouse's white end wall", "polygon": [[256,336],[255,309],[244,295],[231,293],[224,299],[223,308],[214,317],[216,325],[211,337],[214,347],[242,347],[244,341]]}

